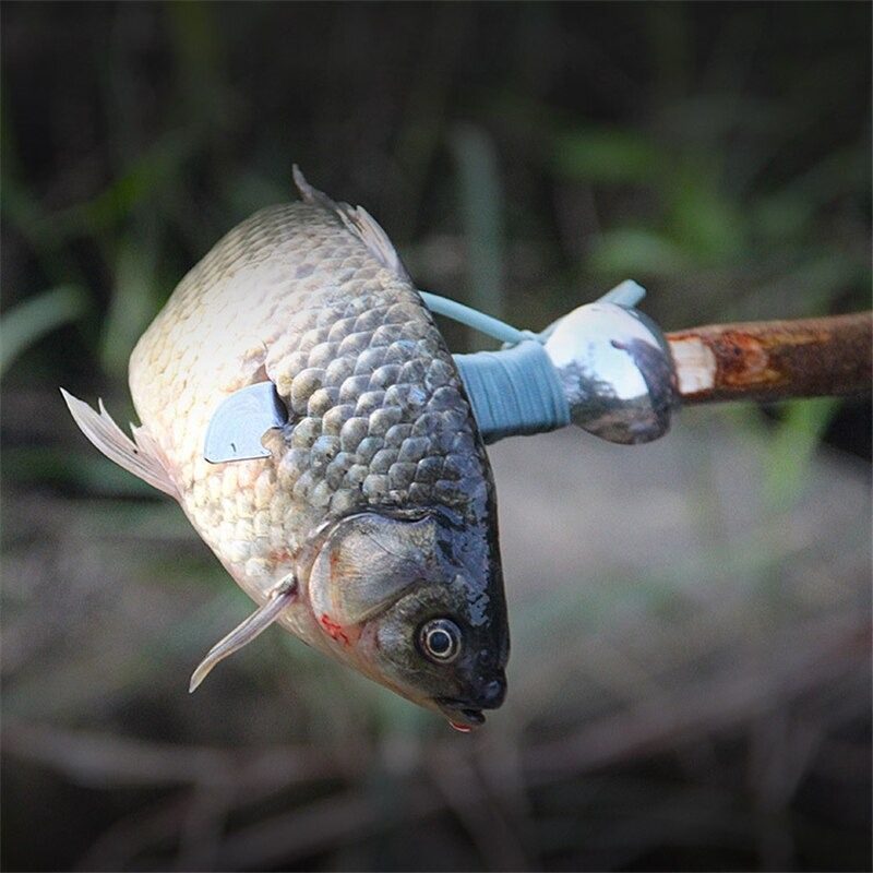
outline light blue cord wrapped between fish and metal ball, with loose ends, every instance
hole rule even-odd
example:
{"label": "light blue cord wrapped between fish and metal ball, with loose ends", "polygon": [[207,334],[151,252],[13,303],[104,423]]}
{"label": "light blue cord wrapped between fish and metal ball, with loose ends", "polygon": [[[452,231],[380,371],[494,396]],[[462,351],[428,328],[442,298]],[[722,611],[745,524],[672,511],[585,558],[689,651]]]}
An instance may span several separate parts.
{"label": "light blue cord wrapped between fish and metal ball, with loose ends", "polygon": [[[511,346],[501,351],[454,356],[486,443],[497,442],[504,436],[558,430],[570,423],[570,406],[564,388],[542,347],[559,322],[534,334],[519,331],[456,300],[429,291],[420,294],[431,312],[466,324]],[[645,296],[643,287],[626,279],[603,295],[599,302],[631,308]]]}

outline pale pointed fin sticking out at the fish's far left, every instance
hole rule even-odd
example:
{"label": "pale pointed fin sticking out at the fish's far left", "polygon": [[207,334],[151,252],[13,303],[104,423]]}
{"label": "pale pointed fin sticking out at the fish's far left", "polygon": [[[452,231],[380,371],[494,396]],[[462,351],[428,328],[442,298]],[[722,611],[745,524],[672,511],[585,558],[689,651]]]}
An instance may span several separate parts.
{"label": "pale pointed fin sticking out at the fish's far left", "polygon": [[[116,424],[103,400],[98,400],[99,414],[92,409],[86,403],[73,397],[72,394],[61,388],[61,394],[70,409],[75,423],[85,436],[103,452],[109,461],[115,461],[119,467],[123,467],[128,473],[139,476],[143,481],[169,494],[171,498],[179,499],[179,491],[167,474],[167,469],[160,461],[160,453],[155,444],[152,434],[145,428],[134,428],[133,440],[128,436],[121,428]],[[135,440],[135,442],[134,442]]]}

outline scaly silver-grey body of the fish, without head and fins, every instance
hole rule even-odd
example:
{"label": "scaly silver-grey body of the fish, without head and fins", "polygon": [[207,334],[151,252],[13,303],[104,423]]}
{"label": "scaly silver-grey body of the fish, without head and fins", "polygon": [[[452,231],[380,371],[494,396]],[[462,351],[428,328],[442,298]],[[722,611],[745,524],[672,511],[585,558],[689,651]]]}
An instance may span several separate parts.
{"label": "scaly silver-grey body of the fish, without head and fins", "polygon": [[[265,440],[274,456],[207,464],[208,417],[261,368],[290,414]],[[321,206],[268,207],[225,236],[136,345],[130,382],[189,517],[254,596],[300,548],[302,517],[438,502],[474,522],[488,509],[488,461],[432,318]],[[286,622],[303,630],[292,611]]]}

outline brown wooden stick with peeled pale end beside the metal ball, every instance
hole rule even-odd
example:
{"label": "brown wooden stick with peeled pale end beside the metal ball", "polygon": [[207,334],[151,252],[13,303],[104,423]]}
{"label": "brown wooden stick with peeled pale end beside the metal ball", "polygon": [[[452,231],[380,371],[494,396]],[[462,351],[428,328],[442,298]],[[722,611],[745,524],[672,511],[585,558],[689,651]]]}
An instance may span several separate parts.
{"label": "brown wooden stick with peeled pale end beside the metal ball", "polygon": [[667,334],[682,404],[870,395],[873,313]]}

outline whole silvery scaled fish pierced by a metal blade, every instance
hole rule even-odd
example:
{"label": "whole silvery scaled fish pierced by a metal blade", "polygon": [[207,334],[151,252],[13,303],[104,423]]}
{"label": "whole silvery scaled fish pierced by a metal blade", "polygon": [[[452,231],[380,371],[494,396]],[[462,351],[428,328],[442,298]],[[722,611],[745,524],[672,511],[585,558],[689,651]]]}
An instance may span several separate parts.
{"label": "whole silvery scaled fish pierced by a metal blade", "polygon": [[[177,500],[258,603],[191,690],[278,623],[469,731],[503,703],[510,650],[481,434],[385,231],[294,178],[300,199],[230,230],[136,343],[131,436],[103,400],[61,391],[88,440]],[[263,383],[283,414],[262,456],[207,461],[216,409]]]}

